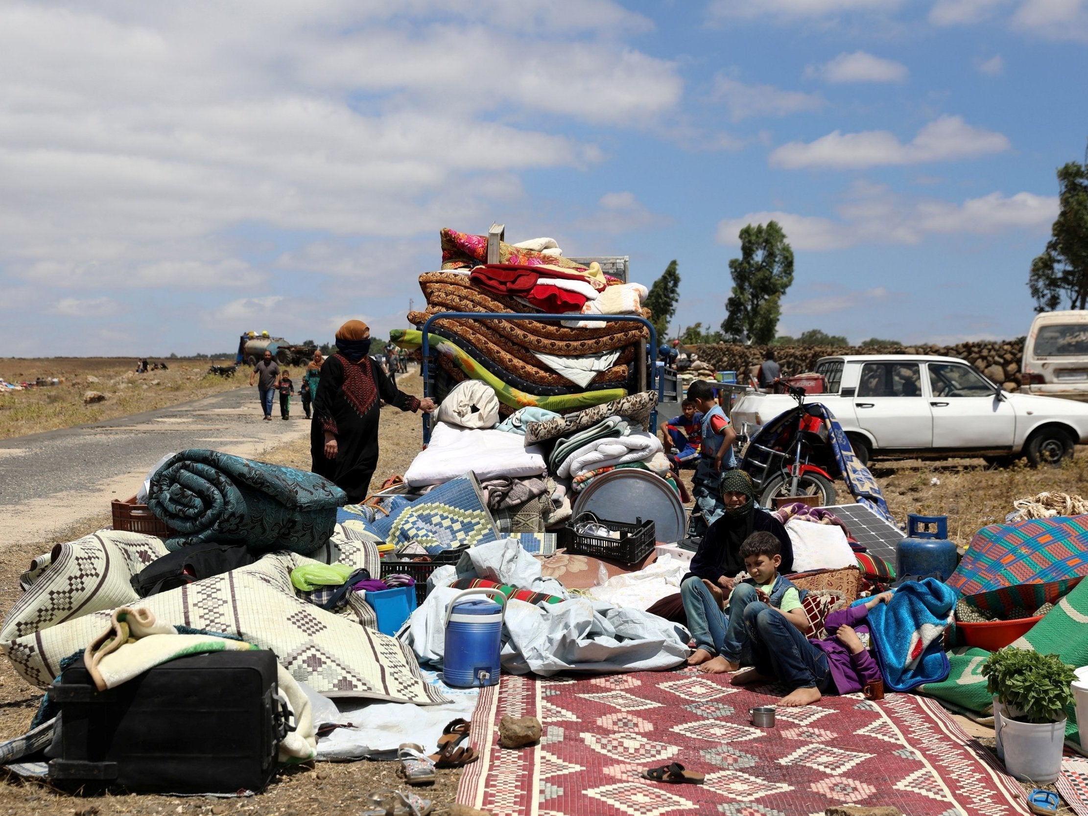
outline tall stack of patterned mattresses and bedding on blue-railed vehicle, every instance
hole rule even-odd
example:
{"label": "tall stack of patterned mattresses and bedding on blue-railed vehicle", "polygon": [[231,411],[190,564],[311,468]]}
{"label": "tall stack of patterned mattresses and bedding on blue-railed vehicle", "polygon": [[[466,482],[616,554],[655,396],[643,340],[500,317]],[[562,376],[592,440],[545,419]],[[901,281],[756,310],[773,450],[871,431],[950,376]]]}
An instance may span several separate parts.
{"label": "tall stack of patterned mattresses and bedding on blue-railed vehicle", "polygon": [[[648,341],[647,329],[579,316],[599,314],[605,304],[615,313],[648,318],[641,307],[645,287],[607,277],[599,268],[508,244],[500,244],[502,264],[487,267],[486,236],[443,230],[442,247],[443,270],[419,279],[426,309],[409,312],[417,327],[394,331],[395,343],[418,348],[423,323],[441,312],[569,313],[571,320],[562,322],[444,318],[431,324],[429,342],[449,379],[486,382],[507,409],[504,413],[527,406],[564,412],[638,390],[639,343]],[[503,280],[510,281],[508,287]]]}

